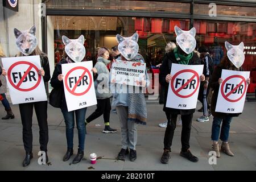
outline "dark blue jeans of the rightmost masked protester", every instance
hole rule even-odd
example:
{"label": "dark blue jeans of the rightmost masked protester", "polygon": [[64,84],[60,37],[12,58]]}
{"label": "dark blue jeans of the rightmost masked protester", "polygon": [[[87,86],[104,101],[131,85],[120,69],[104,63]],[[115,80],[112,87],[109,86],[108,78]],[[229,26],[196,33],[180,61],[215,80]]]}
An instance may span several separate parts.
{"label": "dark blue jeans of the rightmost masked protester", "polygon": [[[213,141],[218,141],[218,137],[220,136],[220,139],[223,142],[228,142],[229,128],[230,128],[231,121],[232,121],[232,117],[224,117],[223,119],[213,117],[213,122],[212,122],[212,140]],[[220,126],[221,122],[222,122],[222,126]]]}

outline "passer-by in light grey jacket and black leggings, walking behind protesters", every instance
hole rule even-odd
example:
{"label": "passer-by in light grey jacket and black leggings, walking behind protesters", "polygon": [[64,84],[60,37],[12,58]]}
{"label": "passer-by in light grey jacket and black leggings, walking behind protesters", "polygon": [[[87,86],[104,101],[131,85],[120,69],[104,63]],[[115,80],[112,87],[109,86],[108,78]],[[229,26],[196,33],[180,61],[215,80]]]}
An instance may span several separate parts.
{"label": "passer-by in light grey jacket and black leggings, walking behind protesters", "polygon": [[94,119],[100,117],[103,114],[105,129],[103,133],[115,133],[116,129],[112,129],[109,126],[110,118],[110,97],[112,94],[108,88],[108,79],[109,79],[109,70],[106,67],[110,63],[109,59],[109,50],[105,47],[98,49],[98,58],[97,63],[94,68],[97,69],[98,77],[94,81],[94,87],[97,97],[97,109],[86,118],[85,125],[93,121]]}

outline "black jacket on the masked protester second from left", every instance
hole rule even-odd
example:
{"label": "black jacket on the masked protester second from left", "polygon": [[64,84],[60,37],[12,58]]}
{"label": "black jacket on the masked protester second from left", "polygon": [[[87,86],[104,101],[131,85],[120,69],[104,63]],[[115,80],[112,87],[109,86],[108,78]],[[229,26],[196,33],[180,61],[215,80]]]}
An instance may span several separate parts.
{"label": "black jacket on the masked protester second from left", "polygon": [[[56,64],[56,67],[54,69],[52,78],[51,78],[51,86],[55,89],[61,88],[61,109],[67,109],[67,103],[65,99],[65,93],[64,93],[64,84],[63,81],[58,80],[58,76],[62,74],[62,69],[61,69],[61,64],[67,64],[67,60],[60,61],[59,63]],[[98,74],[94,76],[93,74],[93,80],[97,78]]]}

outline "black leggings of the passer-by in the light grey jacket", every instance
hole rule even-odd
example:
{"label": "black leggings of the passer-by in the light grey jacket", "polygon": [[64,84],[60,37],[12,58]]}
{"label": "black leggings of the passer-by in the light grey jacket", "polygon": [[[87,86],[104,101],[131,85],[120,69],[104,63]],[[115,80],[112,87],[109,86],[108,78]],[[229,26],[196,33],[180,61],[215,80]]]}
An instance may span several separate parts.
{"label": "black leggings of the passer-by in the light grey jacket", "polygon": [[89,115],[89,117],[86,119],[86,122],[89,123],[103,114],[104,123],[108,123],[110,118],[110,111],[110,98],[97,99],[97,109],[91,115]]}

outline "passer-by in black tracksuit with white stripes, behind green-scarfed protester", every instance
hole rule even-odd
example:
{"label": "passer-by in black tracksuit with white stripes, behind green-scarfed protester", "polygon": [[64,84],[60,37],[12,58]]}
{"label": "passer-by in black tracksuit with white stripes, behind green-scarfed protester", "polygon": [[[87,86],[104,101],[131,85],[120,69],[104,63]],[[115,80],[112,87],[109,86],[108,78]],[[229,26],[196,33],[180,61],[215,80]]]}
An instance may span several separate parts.
{"label": "passer-by in black tracksuit with white stripes, behind green-scarfed protester", "polygon": [[199,47],[198,51],[200,52],[201,57],[203,57],[203,59],[201,59],[201,64],[204,65],[203,74],[205,75],[205,81],[201,82],[198,95],[198,100],[203,104],[203,115],[196,119],[196,121],[207,122],[209,121],[209,116],[211,115],[210,111],[208,111],[210,107],[207,101],[207,97],[210,89],[209,82],[213,73],[213,60],[207,47],[201,46]]}

